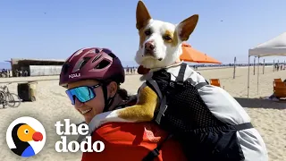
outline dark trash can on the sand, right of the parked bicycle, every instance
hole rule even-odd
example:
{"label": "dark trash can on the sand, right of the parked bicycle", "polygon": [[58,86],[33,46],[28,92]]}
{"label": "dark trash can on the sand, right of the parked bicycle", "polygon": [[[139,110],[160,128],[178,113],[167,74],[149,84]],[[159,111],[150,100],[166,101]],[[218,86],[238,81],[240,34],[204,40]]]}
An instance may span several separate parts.
{"label": "dark trash can on the sand, right of the parked bicycle", "polygon": [[37,81],[18,83],[18,96],[22,101],[36,101],[37,84]]}

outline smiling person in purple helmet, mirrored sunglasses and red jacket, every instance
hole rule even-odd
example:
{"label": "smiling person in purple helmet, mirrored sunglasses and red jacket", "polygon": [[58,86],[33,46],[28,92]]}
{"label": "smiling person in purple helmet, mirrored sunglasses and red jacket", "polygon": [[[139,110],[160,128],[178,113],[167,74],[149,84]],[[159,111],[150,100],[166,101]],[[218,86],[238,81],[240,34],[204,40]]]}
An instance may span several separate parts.
{"label": "smiling person in purple helmet, mirrored sunglasses and red jacket", "polygon": [[[90,47],[76,51],[66,60],[59,84],[67,89],[71,104],[85,123],[90,123],[97,114],[136,103],[120,88],[124,80],[121,61],[111,50]],[[105,149],[101,153],[84,152],[83,161],[186,160],[179,142],[156,123],[105,123],[91,136],[92,141],[103,141]]]}

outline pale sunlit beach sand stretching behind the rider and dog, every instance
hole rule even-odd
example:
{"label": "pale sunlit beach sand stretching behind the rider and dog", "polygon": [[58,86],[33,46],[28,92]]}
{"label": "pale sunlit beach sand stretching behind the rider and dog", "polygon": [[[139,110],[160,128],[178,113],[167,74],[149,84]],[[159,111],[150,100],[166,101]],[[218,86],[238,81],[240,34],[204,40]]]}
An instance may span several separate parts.
{"label": "pale sunlit beach sand stretching behind the rider and dog", "polygon": [[[273,67],[265,67],[265,74],[262,74],[262,67],[259,75],[259,91],[257,94],[257,69],[256,75],[253,75],[253,67],[250,67],[250,88],[249,99],[247,97],[248,89],[248,67],[238,67],[236,69],[236,78],[232,78],[233,69],[199,69],[206,80],[218,78],[221,84],[231,96],[236,97],[241,106],[252,118],[257,130],[265,140],[269,153],[269,160],[286,160],[286,104],[285,102],[276,102],[259,99],[258,97],[269,97],[273,93],[273,79],[286,79],[286,71],[273,72]],[[51,79],[51,80],[49,80]],[[80,123],[83,118],[71,106],[62,87],[58,86],[58,76],[46,77],[27,77],[27,78],[1,78],[0,82],[7,81],[38,81],[37,101],[24,102],[17,108],[7,107],[0,109],[1,120],[0,128],[0,158],[1,160],[80,160],[81,154],[78,153],[57,153],[55,151],[55,142],[60,137],[55,134],[55,122],[70,118],[71,123]],[[128,75],[122,88],[128,89],[130,93],[136,93],[141,82],[139,75]],[[0,84],[4,85],[4,84]],[[10,91],[17,93],[17,83],[9,85]],[[46,129],[46,145],[37,156],[27,158],[17,157],[7,147],[5,136],[8,125],[14,119],[29,115],[40,121]],[[76,137],[71,137],[73,140]]]}

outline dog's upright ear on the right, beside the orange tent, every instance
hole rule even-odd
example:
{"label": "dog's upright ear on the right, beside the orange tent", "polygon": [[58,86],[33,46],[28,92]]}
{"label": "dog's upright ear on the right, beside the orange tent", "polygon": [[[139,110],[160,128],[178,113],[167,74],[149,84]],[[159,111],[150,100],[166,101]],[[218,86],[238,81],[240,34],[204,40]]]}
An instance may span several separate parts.
{"label": "dog's upright ear on the right, beside the orange tent", "polygon": [[190,16],[188,19],[181,21],[178,25],[179,37],[181,41],[187,41],[190,34],[195,30],[198,23],[198,14]]}

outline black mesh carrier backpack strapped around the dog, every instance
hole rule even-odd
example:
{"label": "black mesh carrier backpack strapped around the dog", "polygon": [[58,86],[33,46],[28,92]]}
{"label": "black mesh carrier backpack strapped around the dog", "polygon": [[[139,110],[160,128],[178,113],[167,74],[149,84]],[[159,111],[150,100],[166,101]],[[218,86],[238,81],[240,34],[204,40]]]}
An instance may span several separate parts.
{"label": "black mesh carrier backpack strapped around the dog", "polygon": [[[146,85],[156,91],[160,98],[154,121],[181,142],[189,160],[244,160],[236,132],[253,128],[252,124],[231,124],[218,119],[217,114],[214,115],[210,109],[219,108],[219,102],[207,102],[204,92],[215,97],[222,95],[221,90],[214,89],[219,87],[209,85],[198,72],[190,70],[187,64],[181,64],[177,76],[174,73],[162,69],[153,72],[152,77],[146,80]],[[235,100],[233,97],[233,100],[228,98],[230,100],[225,102],[231,108],[231,101]],[[158,148],[143,160],[153,160]]]}

